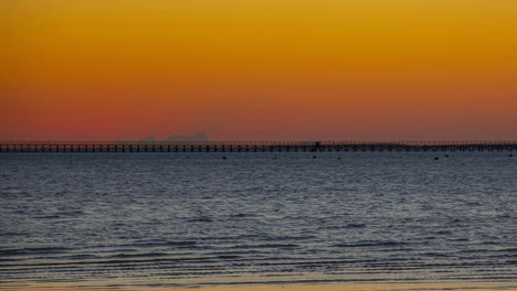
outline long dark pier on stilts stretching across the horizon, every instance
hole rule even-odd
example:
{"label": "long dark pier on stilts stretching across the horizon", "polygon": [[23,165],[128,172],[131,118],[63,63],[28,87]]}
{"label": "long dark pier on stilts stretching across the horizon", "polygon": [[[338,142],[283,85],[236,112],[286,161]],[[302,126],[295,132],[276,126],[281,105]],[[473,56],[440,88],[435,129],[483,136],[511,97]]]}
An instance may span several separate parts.
{"label": "long dark pier on stilts stretching across the horizon", "polygon": [[517,141],[0,141],[8,152],[511,152]]}

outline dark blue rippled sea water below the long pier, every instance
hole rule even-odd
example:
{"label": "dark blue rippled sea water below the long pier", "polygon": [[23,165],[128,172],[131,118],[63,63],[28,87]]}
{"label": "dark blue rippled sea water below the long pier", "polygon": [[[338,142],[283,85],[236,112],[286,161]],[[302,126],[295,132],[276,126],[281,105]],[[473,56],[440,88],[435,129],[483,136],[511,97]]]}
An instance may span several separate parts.
{"label": "dark blue rippled sea water below the long pier", "polygon": [[516,285],[508,153],[225,155],[0,154],[0,287]]}

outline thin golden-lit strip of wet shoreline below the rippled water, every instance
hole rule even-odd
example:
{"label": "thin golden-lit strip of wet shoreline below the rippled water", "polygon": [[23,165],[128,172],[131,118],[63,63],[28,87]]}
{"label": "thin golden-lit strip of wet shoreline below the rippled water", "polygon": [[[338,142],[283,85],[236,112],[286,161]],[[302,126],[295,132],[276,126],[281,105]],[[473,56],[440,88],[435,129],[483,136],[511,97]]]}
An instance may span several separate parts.
{"label": "thin golden-lit strip of wet shoreline below the rippled water", "polygon": [[0,283],[0,290],[10,291],[415,291],[415,290],[517,290],[517,282],[365,282],[365,283],[289,283],[289,284],[225,284],[193,287],[129,285],[124,281],[52,282],[52,283]]}

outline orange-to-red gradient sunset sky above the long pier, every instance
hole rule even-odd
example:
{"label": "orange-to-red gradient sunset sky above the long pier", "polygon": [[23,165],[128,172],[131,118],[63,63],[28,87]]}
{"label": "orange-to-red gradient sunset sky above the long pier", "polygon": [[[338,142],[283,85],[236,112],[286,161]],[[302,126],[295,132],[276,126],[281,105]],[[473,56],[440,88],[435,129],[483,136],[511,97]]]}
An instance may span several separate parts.
{"label": "orange-to-red gradient sunset sky above the long pier", "polygon": [[3,0],[0,139],[517,140],[515,0]]}

